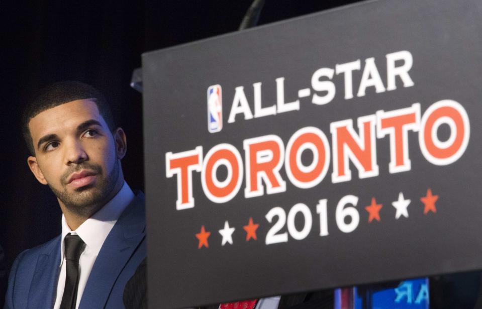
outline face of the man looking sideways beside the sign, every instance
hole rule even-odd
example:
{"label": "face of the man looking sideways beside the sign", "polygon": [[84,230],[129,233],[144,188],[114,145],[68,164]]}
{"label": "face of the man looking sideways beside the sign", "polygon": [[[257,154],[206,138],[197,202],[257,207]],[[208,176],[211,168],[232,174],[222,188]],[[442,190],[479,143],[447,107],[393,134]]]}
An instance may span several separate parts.
{"label": "face of the man looking sideways beside the sign", "polygon": [[80,99],[46,110],[29,122],[35,157],[29,166],[61,206],[90,217],[121,188],[122,129],[113,133],[95,102]]}

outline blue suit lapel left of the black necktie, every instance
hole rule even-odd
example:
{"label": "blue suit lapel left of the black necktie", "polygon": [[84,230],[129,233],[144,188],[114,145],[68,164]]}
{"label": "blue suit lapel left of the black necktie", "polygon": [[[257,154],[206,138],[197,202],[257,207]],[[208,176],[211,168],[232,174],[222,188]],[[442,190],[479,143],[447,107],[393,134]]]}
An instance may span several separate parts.
{"label": "blue suit lapel left of the black necktie", "polygon": [[38,256],[29,290],[29,308],[53,307],[59,271],[60,237],[57,237]]}

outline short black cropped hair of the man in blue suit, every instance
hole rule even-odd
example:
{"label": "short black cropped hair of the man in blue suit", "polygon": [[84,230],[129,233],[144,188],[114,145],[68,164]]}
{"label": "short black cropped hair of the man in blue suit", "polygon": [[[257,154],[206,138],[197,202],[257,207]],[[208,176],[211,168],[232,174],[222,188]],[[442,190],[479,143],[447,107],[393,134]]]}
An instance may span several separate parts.
{"label": "short black cropped hair of the man in blue suit", "polygon": [[104,118],[111,132],[116,129],[111,108],[99,90],[79,81],[56,82],[43,88],[35,98],[29,102],[22,114],[22,130],[25,142],[33,156],[35,155],[35,148],[29,129],[30,120],[43,111],[67,102],[87,98],[95,102],[99,109],[99,114]]}

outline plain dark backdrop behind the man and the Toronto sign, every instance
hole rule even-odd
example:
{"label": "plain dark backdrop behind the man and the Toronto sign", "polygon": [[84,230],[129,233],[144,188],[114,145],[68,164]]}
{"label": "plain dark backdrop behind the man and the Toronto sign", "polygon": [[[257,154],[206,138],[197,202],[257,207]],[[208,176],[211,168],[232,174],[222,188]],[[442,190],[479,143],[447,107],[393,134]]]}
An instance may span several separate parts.
{"label": "plain dark backdrop behind the man and the Toronto sign", "polygon": [[[103,91],[127,133],[125,177],[132,188],[143,189],[142,96],[129,87],[141,53],[237,31],[251,1],[0,4],[0,246],[7,269],[21,251],[60,233],[57,201],[33,177],[26,161],[19,118],[32,92],[59,80],[80,80]],[[266,0],[259,24],[353,2],[357,0]]]}

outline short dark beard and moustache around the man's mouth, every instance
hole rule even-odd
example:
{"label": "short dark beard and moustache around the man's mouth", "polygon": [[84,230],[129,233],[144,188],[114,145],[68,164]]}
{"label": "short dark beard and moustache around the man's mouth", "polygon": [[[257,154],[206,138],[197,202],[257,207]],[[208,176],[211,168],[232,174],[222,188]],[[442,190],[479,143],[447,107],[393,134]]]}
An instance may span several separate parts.
{"label": "short dark beard and moustache around the man's mouth", "polygon": [[[106,177],[103,177],[102,167],[100,165],[82,162],[69,168],[60,177],[60,183],[64,188],[62,191],[53,188],[50,184],[49,186],[55,196],[63,202],[65,208],[74,214],[88,218],[106,204],[108,199],[113,197],[111,194],[119,179],[119,165],[120,161],[116,159],[112,172]],[[74,193],[67,192],[67,179],[72,173],[81,171],[82,169],[94,171],[97,176],[96,183],[76,188]]]}

